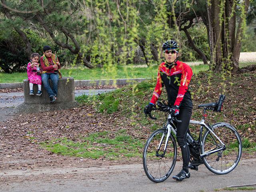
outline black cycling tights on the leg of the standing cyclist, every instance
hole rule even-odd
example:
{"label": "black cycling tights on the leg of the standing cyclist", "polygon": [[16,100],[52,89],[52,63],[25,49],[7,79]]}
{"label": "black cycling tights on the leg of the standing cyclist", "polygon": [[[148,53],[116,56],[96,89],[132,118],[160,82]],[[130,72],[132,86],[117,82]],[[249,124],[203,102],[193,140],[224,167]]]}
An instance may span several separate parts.
{"label": "black cycling tights on the leg of the standing cyclist", "polygon": [[[189,132],[188,124],[190,120],[192,110],[190,109],[180,109],[180,114],[178,114],[177,119],[181,120],[181,123],[175,124],[177,126],[177,142],[181,148],[183,166],[182,169],[188,171],[188,164],[190,159],[190,151],[188,144],[186,142],[186,135]],[[190,132],[189,132],[190,133]]]}

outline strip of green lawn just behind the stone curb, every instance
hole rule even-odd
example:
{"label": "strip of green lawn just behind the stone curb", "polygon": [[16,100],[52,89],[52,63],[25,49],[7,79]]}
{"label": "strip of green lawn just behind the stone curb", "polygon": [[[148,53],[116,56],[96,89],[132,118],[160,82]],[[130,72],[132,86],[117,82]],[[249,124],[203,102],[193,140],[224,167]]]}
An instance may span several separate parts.
{"label": "strip of green lawn just behind the stone curb", "polygon": [[[78,68],[61,68],[63,77],[71,76],[74,80],[95,80],[95,79],[119,79],[119,78],[152,78],[157,74],[157,65],[150,67],[133,67],[133,66],[112,66],[111,68],[88,69]],[[191,66],[193,73],[208,70],[208,65]],[[0,73],[0,83],[23,82],[27,79],[27,73]]]}

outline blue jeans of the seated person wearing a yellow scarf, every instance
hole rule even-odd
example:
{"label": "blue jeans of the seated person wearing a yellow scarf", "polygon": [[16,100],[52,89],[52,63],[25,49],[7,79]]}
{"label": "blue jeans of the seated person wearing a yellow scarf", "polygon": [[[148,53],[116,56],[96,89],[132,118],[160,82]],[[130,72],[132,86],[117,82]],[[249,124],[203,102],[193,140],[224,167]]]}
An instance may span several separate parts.
{"label": "blue jeans of the seated person wearing a yellow scarf", "polygon": [[[52,80],[52,88],[50,87],[49,84],[49,78]],[[59,76],[58,74],[54,73],[43,73],[41,75],[42,83],[44,84],[44,88],[49,94],[49,97],[51,96],[57,96],[58,92],[58,81],[59,81]]]}

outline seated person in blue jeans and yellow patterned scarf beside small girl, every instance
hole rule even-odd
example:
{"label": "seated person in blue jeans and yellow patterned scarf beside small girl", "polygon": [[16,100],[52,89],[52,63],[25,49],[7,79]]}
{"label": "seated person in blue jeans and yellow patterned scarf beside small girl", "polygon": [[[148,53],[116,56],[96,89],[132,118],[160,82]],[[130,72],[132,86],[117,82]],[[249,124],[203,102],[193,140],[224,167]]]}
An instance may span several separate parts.
{"label": "seated person in blue jeans and yellow patterned scarf beside small girl", "polygon": [[[58,73],[57,70],[60,68],[58,57],[52,54],[50,46],[46,45],[43,47],[44,55],[40,58],[40,64],[42,68],[42,83],[44,88],[49,94],[51,103],[54,103],[58,91]],[[49,85],[49,78],[52,80],[52,88]]]}

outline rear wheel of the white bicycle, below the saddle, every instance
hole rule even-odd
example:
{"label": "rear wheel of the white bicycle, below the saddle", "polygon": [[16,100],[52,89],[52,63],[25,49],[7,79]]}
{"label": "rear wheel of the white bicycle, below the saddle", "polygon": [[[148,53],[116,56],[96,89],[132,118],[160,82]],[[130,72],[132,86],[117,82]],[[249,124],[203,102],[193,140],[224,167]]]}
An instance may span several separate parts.
{"label": "rear wheel of the white bicycle, below the saddle", "polygon": [[[209,154],[203,157],[205,166],[215,174],[227,174],[237,165],[242,155],[242,142],[240,135],[232,125],[218,122],[212,125],[213,132],[221,142],[209,130],[203,135],[201,154]],[[221,149],[211,153],[214,150]]]}

